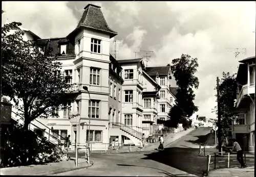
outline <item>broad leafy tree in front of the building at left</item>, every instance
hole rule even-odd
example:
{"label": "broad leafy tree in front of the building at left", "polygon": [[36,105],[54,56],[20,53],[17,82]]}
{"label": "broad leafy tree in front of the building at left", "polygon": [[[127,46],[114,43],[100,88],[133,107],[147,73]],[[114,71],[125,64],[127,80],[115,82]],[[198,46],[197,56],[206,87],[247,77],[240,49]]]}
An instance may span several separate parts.
{"label": "broad leafy tree in front of the building at left", "polygon": [[[3,13],[3,11],[2,11]],[[66,109],[73,102],[72,84],[60,73],[61,63],[48,47],[39,51],[36,41],[25,41],[22,23],[11,22],[2,27],[2,93],[15,103],[24,117],[24,128],[37,117],[58,116],[53,109]],[[35,104],[40,100],[39,104]]]}

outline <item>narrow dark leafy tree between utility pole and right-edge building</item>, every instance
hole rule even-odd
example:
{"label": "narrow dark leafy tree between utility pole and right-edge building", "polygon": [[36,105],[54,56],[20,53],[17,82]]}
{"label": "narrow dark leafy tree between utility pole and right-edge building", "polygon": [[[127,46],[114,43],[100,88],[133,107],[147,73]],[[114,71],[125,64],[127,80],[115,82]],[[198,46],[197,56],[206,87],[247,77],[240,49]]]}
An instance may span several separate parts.
{"label": "narrow dark leafy tree between utility pole and right-edge building", "polygon": [[[217,88],[215,87],[215,90]],[[217,102],[217,94],[216,102]],[[237,81],[236,74],[230,75],[229,72],[222,73],[221,83],[219,85],[219,113],[221,116],[220,129],[222,135],[229,129],[229,125],[236,113],[234,113],[234,100],[237,98]],[[218,107],[215,106],[214,111],[218,116]],[[217,125],[218,122],[217,122]]]}

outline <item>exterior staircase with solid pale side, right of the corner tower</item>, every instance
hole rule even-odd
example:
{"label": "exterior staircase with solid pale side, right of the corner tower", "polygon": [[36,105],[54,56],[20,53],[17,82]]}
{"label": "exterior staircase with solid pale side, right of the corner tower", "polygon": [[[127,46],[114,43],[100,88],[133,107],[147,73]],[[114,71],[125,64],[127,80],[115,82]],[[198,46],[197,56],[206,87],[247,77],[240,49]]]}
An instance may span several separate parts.
{"label": "exterior staircase with solid pale side, right of the corner tower", "polygon": [[135,145],[140,145],[142,140],[142,133],[120,122],[112,122],[111,124],[113,129],[117,128],[121,130],[121,134],[130,138],[130,140],[132,140]]}

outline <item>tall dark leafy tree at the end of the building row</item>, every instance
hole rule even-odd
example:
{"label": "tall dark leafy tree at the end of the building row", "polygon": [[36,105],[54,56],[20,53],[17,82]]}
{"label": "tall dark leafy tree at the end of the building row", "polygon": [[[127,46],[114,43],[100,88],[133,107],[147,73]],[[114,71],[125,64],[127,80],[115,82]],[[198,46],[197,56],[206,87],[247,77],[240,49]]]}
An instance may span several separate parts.
{"label": "tall dark leafy tree at the end of the building row", "polygon": [[166,122],[169,127],[177,127],[178,123],[186,121],[198,107],[194,104],[195,94],[193,88],[198,89],[199,80],[194,75],[197,72],[198,59],[182,54],[174,59],[170,69],[178,85],[175,105],[170,109],[170,120]]}

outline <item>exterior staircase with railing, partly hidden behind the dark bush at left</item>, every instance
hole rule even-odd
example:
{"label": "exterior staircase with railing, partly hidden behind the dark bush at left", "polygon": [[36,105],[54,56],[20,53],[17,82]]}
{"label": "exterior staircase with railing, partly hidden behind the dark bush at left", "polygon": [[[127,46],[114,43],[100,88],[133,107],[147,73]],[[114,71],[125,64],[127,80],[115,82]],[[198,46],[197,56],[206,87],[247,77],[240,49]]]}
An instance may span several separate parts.
{"label": "exterior staircase with railing, partly hidden behind the dark bush at left", "polygon": [[[16,122],[18,122],[19,124],[24,125],[24,118],[23,118],[22,116],[18,115],[17,113],[13,112],[13,111],[12,111],[12,113],[14,113],[15,115],[17,115],[17,116],[20,117],[20,118],[14,118],[14,117],[11,117],[11,118],[12,118],[13,120],[15,120]],[[19,121],[19,119],[21,119],[21,120],[23,120],[23,121]],[[35,119],[34,121],[39,122],[39,121],[36,120],[36,119]],[[51,130],[51,129],[48,128],[45,124],[43,124],[43,123],[41,123],[41,122],[39,122],[39,123],[42,124],[42,125],[44,125],[44,127],[46,128],[46,130],[47,130],[47,129],[48,129],[48,130]],[[44,132],[44,134],[47,135],[47,136],[43,136],[43,137],[46,137],[46,138],[48,139],[48,141],[50,141],[51,143],[56,144],[56,145],[58,145],[58,146],[64,145],[64,143],[62,143],[59,138],[54,137],[53,135],[49,134],[49,132],[47,132],[46,130],[40,129],[38,126],[36,126],[36,125],[33,124],[32,122],[30,122],[30,124],[32,124],[35,128],[37,128],[37,129],[41,130],[42,132]],[[30,126],[29,126],[29,130],[32,131],[32,132],[34,132],[35,134],[37,134],[33,129],[30,128]],[[51,132],[51,131],[50,131],[50,132]],[[37,135],[38,135],[38,136],[41,136],[41,135],[39,135],[39,134],[37,134]],[[52,140],[50,140],[50,137],[52,138]],[[65,139],[65,137],[61,137],[60,135],[58,135],[58,137]]]}

